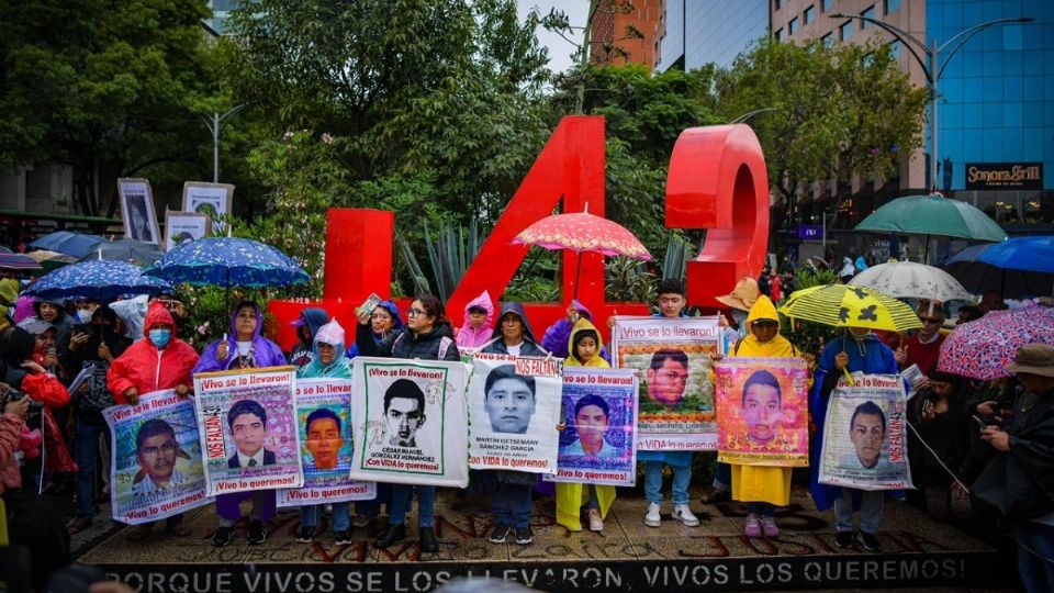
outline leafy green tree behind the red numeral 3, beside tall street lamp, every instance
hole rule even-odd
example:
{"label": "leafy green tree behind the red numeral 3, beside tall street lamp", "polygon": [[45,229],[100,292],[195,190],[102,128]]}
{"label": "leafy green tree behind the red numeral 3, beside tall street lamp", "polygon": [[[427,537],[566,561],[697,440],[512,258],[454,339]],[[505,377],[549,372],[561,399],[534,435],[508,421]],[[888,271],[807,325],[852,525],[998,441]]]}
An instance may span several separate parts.
{"label": "leafy green tree behind the red numeral 3, beside tall street lamp", "polygon": [[812,181],[886,176],[922,141],[926,89],[911,85],[888,46],[765,38],[719,71],[715,88],[727,120],[774,110],[750,125],[785,206]]}

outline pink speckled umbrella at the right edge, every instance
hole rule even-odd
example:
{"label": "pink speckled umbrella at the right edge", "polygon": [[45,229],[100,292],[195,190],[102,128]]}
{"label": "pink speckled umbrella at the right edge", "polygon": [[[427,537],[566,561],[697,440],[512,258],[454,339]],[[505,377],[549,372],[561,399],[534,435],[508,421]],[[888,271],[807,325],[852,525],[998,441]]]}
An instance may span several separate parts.
{"label": "pink speckled umbrella at the right edge", "polygon": [[1054,307],[1031,304],[991,311],[948,336],[937,368],[985,381],[1009,377],[1006,366],[1013,362],[1018,347],[1034,343],[1054,346]]}

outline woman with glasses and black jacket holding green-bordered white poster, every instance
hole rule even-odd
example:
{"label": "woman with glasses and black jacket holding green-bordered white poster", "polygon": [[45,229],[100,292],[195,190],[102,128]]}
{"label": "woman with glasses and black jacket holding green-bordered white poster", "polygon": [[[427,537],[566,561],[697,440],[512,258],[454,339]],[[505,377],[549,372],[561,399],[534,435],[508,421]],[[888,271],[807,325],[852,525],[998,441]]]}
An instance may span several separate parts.
{"label": "woman with glasses and black jacket holding green-bordered white poster", "polygon": [[[370,313],[359,316],[355,343],[362,356],[391,358],[421,358],[423,360],[460,360],[458,345],[453,342],[453,328],[442,306],[434,294],[422,294],[406,311],[406,327],[374,342],[370,327]],[[417,524],[421,529],[421,550],[439,551],[435,532],[436,486],[392,484],[392,502],[389,510],[389,526],[374,546],[388,548],[406,539],[406,512],[410,511],[417,490]]]}

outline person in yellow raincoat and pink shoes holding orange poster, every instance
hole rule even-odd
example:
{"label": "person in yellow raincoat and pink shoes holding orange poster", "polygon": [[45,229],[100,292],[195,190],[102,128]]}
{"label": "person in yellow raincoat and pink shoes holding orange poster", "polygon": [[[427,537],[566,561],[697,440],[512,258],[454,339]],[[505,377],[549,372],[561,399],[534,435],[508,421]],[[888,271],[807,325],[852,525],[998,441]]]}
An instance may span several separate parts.
{"label": "person in yellow raincoat and pink shoes holding orange poster", "polygon": [[[740,339],[730,357],[793,358],[798,349],[780,335],[780,314],[772,301],[761,295],[747,315],[747,336]],[[719,359],[720,355],[713,358]],[[713,373],[713,371],[711,371]],[[732,499],[747,503],[748,537],[778,537],[775,507],[790,503],[790,468],[740,466],[732,468]]]}

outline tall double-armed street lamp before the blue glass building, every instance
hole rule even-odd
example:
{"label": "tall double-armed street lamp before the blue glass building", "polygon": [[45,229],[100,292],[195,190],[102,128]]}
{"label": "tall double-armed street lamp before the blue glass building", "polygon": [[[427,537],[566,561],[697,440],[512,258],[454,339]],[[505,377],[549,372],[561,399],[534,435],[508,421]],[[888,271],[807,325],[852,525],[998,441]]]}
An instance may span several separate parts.
{"label": "tall double-armed street lamp before the blue glass building", "polygon": [[[963,45],[969,41],[971,37],[979,33],[980,31],[988,29],[990,26],[1003,25],[1010,23],[1031,23],[1035,19],[1031,16],[1019,16],[1017,19],[997,19],[995,21],[987,21],[978,25],[974,25],[965,31],[960,32],[954,37],[944,42],[940,47],[937,46],[935,41],[930,41],[930,45],[927,46],[921,40],[908,33],[907,31],[892,25],[887,22],[879,21],[877,19],[872,19],[871,16],[864,16],[862,14],[842,14],[834,13],[831,14],[832,19],[857,19],[861,21],[866,21],[874,25],[877,25],[885,31],[887,31],[894,37],[900,40],[900,43],[911,52],[911,55],[915,56],[915,59],[918,60],[919,66],[922,67],[922,74],[926,75],[926,86],[930,94],[930,187],[937,189],[937,82],[941,79],[941,75],[944,74],[944,68],[948,67],[948,63],[952,60],[952,56],[956,52],[962,49]],[[940,55],[952,44],[955,44],[952,47],[951,52],[944,56],[944,61],[940,61]],[[919,55],[918,48],[923,54],[926,54],[926,59],[922,59],[922,56]]]}

